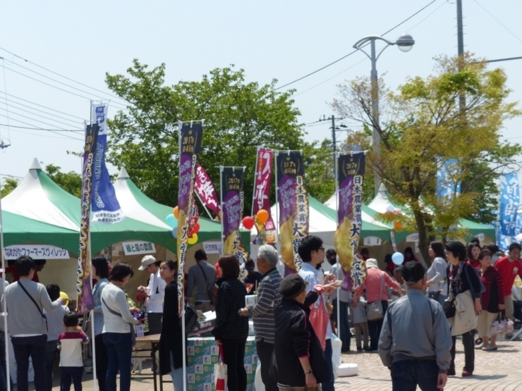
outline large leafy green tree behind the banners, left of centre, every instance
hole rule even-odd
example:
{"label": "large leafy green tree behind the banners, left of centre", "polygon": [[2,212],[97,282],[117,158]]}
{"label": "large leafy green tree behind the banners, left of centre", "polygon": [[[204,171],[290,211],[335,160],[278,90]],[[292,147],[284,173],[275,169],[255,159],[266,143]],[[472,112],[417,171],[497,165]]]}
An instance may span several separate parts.
{"label": "large leafy green tree behind the banners, left of centre", "polygon": [[[303,127],[293,92],[246,82],[243,70],[214,69],[202,80],[165,85],[165,66],[135,60],[128,75],[107,74],[107,85],[130,102],[109,121],[107,160],[124,166],[149,197],[173,205],[178,194],[178,121],[205,119],[200,163],[219,190],[217,166],[246,166],[245,214],[250,214],[258,146],[302,149]],[[274,199],[272,186],[272,199]]]}

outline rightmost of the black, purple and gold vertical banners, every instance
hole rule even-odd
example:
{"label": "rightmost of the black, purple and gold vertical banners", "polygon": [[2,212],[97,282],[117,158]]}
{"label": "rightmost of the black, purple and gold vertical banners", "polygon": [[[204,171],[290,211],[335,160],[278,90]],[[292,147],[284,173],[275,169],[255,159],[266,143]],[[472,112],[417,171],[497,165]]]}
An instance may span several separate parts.
{"label": "rightmost of the black, purple and gold vertical banners", "polygon": [[365,263],[356,256],[360,230],[363,227],[361,209],[365,152],[338,155],[336,163],[338,207],[334,246],[348,281],[348,290],[351,290],[353,287],[360,287],[366,277]]}

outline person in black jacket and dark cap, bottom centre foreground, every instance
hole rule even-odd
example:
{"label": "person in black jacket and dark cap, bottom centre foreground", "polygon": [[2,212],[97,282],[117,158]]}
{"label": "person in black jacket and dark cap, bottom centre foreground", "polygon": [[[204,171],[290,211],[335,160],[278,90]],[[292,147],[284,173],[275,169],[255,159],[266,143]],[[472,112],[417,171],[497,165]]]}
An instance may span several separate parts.
{"label": "person in black jacket and dark cap, bottom centre foreground", "polygon": [[[309,321],[315,290],[306,293],[306,282],[298,274],[288,275],[279,286],[283,297],[275,309],[275,343],[270,373],[279,390],[316,387],[329,381],[327,361],[321,343]],[[308,305],[307,305],[308,304]]]}

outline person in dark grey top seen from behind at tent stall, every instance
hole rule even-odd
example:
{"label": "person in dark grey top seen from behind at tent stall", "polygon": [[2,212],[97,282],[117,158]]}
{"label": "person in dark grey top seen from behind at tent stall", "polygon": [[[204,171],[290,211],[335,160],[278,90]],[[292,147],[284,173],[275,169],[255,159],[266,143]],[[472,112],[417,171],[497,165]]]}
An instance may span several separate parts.
{"label": "person in dark grey top seen from behind at tent stall", "polygon": [[195,308],[202,312],[215,311],[214,285],[216,284],[216,269],[207,262],[205,250],[194,254],[196,264],[188,269],[187,298],[195,297]]}

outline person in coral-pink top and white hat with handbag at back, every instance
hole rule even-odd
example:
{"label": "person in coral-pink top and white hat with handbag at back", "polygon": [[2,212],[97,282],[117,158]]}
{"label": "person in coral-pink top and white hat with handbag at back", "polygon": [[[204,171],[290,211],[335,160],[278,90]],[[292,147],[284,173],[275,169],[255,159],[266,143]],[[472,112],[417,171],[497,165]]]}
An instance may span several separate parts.
{"label": "person in coral-pink top and white hat with handbag at back", "polygon": [[357,299],[363,294],[366,289],[366,316],[368,318],[368,334],[370,334],[370,349],[369,351],[377,350],[379,345],[379,335],[382,329],[382,321],[384,314],[388,309],[388,293],[386,292],[386,285],[394,288],[394,290],[405,294],[406,291],[391,277],[388,273],[384,273],[379,269],[377,259],[369,258],[366,260],[366,278],[363,285],[353,295],[352,306],[357,305]]}

